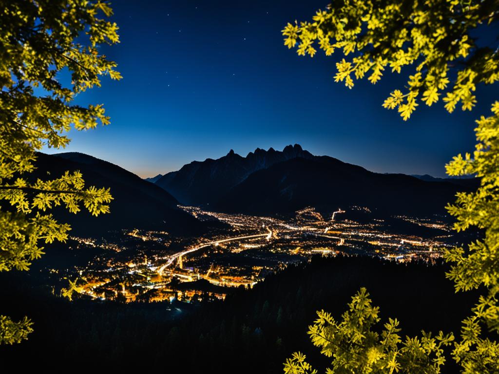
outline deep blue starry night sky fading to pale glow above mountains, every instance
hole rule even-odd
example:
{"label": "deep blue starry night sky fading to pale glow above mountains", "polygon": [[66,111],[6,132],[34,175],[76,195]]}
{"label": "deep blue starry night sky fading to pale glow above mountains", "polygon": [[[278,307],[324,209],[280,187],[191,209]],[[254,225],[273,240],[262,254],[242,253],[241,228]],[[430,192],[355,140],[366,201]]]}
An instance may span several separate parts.
{"label": "deep blue starry night sky fading to pale glow above mountains", "polygon": [[287,21],[311,19],[327,2],[114,1],[121,43],[103,52],[123,79],[105,78],[75,100],[104,103],[111,125],[71,132],[65,151],[148,177],[230,149],[246,156],[299,143],[376,172],[444,176],[452,156],[473,150],[493,86],[480,87],[471,113],[420,103],[402,121],[381,105],[410,70],[349,90],[333,79],[340,53],[301,57],[283,45]]}

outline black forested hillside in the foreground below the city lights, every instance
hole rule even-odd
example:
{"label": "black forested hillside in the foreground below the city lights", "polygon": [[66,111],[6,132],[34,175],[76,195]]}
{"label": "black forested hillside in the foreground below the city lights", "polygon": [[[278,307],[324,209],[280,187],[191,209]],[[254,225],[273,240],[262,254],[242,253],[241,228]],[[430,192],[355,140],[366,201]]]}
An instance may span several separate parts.
{"label": "black forested hillside in the foreground below the city lights", "polygon": [[[318,309],[340,318],[362,286],[380,306],[382,323],[396,317],[403,335],[421,329],[459,331],[474,295],[455,294],[444,273],[443,265],[314,258],[268,276],[251,290],[237,289],[225,302],[190,307],[70,303],[40,292],[26,274],[2,275],[2,314],[29,315],[35,331],[26,342],[0,347],[0,360],[21,360],[38,369],[137,366],[167,373],[280,373],[284,360],[299,350],[323,372],[328,359],[311,344],[307,326]],[[445,372],[455,372],[449,355],[448,363]]]}

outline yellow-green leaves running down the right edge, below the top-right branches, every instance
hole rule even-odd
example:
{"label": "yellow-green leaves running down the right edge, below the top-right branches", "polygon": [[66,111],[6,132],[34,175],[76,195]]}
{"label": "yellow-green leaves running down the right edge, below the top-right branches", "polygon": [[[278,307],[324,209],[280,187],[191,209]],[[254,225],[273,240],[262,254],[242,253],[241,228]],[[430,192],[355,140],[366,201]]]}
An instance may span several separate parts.
{"label": "yellow-green leaves running down the right edge, below the top-right branches", "polygon": [[[455,282],[456,291],[486,287],[472,316],[463,322],[461,340],[456,343],[454,357],[463,372],[498,373],[499,344],[499,102],[492,106],[493,115],[477,120],[475,152],[458,155],[446,165],[453,176],[476,175],[480,187],[475,192],[460,192],[456,202],[447,209],[456,217],[457,231],[476,226],[485,237],[470,243],[467,248],[455,247],[445,252],[452,263],[447,276]],[[485,325],[489,334],[482,331]]]}

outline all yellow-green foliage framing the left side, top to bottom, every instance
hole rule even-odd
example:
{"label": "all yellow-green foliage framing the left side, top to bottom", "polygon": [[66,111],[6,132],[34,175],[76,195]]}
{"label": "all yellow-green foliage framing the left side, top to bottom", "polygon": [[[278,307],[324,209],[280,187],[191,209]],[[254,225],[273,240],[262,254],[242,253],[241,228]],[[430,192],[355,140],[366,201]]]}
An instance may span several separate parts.
{"label": "all yellow-green foliage framing the left side, top to bottom", "polygon": [[[106,18],[106,1],[0,1],[0,271],[27,270],[40,257],[40,243],[67,238],[68,224],[47,212],[63,205],[76,213],[109,211],[109,189],[85,187],[79,172],[32,181],[36,151],[69,143],[71,127],[106,125],[101,104],[74,105],[76,94],[108,75],[120,79],[116,63],[101,54],[102,44],[119,42],[117,25]],[[104,17],[102,17],[104,16]],[[69,87],[58,73],[71,74]],[[0,316],[0,343],[26,338],[31,323]]]}

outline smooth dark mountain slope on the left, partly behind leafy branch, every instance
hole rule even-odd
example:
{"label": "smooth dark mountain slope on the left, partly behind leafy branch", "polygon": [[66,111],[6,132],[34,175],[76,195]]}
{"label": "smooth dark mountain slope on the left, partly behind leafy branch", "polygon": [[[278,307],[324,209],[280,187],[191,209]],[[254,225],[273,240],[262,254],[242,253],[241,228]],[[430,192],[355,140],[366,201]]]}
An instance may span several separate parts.
{"label": "smooth dark mountain slope on the left, partly behind leafy branch", "polygon": [[[71,233],[90,235],[121,228],[161,229],[172,233],[199,233],[205,224],[177,208],[177,200],[160,187],[109,162],[81,153],[37,154],[36,171],[28,178],[57,178],[79,170],[85,186],[109,187],[114,199],[111,212],[98,217],[54,209],[54,215],[72,226]],[[49,175],[48,175],[49,173]]]}

